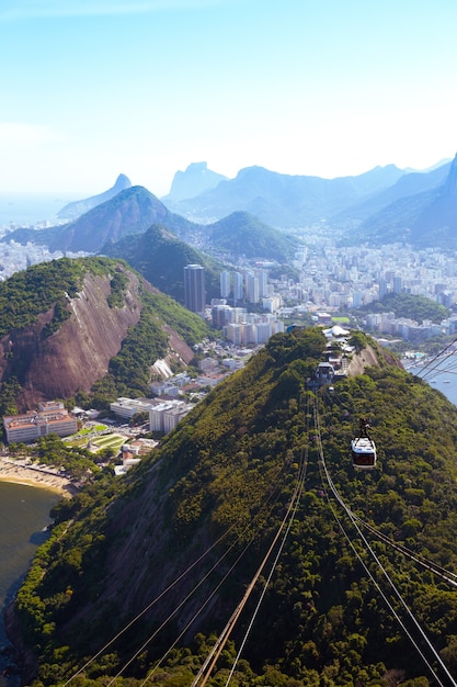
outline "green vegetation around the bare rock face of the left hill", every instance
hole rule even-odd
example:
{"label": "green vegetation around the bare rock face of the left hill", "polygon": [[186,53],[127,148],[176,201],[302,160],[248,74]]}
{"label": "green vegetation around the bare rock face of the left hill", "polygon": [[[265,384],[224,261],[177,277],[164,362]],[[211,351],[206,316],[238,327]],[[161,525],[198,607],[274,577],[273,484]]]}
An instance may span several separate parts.
{"label": "green vegetation around the bare rock face of the left hill", "polygon": [[[132,268],[124,260],[102,257],[71,260],[62,258],[33,266],[0,282],[0,336],[20,333],[35,325],[38,316],[52,311],[50,320],[43,327],[45,339],[57,331],[71,316],[70,299],[78,297],[88,273],[110,279],[107,303],[112,308],[124,307]],[[92,394],[80,394],[79,403],[89,407],[107,408],[121,395],[147,395],[150,365],[169,350],[165,326],[174,329],[190,346],[208,335],[204,320],[180,306],[173,299],[144,284],[140,286],[142,309],[139,323],[130,327],[117,356],[110,362],[107,375],[99,380]],[[8,368],[0,392],[2,415],[15,413],[15,399],[23,383],[27,361],[7,351]]]}

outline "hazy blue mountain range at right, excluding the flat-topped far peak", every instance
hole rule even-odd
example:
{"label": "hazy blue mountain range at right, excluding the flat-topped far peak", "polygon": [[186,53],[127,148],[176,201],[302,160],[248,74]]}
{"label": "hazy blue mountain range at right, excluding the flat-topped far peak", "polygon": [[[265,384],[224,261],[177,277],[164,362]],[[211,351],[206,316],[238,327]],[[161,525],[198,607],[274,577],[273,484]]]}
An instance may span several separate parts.
{"label": "hazy blue mountain range at right, excluding the flat-topped far peak", "polygon": [[269,225],[319,225],[343,233],[349,245],[405,241],[416,247],[457,247],[457,156],[422,172],[393,165],[358,177],[290,177],[260,167],[241,170],[173,210],[201,221],[236,211]]}

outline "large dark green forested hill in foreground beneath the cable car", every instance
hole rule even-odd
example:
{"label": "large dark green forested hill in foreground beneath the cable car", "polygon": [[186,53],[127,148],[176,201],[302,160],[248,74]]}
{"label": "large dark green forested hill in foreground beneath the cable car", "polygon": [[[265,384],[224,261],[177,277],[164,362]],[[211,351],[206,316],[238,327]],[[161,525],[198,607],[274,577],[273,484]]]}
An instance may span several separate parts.
{"label": "large dark green forested hill in foreground beneath the cable car", "polygon": [[[149,684],[192,685],[287,528],[208,685],[228,684],[240,646],[231,685],[425,687],[434,669],[453,684],[457,409],[381,353],[315,397],[323,348],[312,328],[273,337],[125,481],[102,475],[55,509],[15,604],[39,684],[139,685],[150,671]],[[362,415],[370,472],[350,457]]]}

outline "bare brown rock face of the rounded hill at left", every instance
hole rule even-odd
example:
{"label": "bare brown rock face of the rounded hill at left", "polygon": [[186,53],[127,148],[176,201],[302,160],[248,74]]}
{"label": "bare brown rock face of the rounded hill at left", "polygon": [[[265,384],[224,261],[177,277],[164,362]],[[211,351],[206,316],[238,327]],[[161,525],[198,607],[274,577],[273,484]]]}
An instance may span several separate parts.
{"label": "bare brown rock face of the rounded hill at left", "polygon": [[88,273],[83,289],[68,299],[69,319],[58,331],[44,338],[43,329],[54,307],[35,325],[13,330],[0,340],[0,378],[14,371],[22,386],[18,405],[34,407],[39,401],[68,398],[89,391],[107,372],[110,359],[119,349],[128,327],[141,313],[139,279],[132,272],[123,307],[111,308],[110,278]]}

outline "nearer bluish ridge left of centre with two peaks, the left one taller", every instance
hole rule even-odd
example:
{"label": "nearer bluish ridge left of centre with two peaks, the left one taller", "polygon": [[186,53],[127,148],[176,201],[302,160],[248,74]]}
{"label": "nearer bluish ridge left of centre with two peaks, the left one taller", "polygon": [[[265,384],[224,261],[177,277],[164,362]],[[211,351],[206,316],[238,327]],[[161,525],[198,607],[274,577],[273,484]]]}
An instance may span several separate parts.
{"label": "nearer bluish ridge left of centre with two peaks, the left one taller", "polygon": [[[52,251],[103,252],[113,257],[126,257],[136,252],[136,246],[141,245],[138,237],[153,225],[160,225],[163,229],[162,247],[163,236],[167,234],[171,241],[169,241],[169,248],[171,244],[176,248],[179,241],[184,241],[194,249],[198,248],[209,254],[216,252],[219,256],[222,254],[237,259],[243,256],[287,262],[297,248],[296,239],[284,236],[278,229],[244,212],[232,213],[224,221],[209,225],[190,222],[170,212],[144,187],[125,189],[113,199],[101,203],[66,225],[39,230],[16,229],[8,234],[3,240],[13,238],[24,245],[32,241],[45,245]],[[117,241],[121,241],[121,245],[115,248]],[[185,250],[180,248],[180,255],[192,254],[190,246]],[[150,252],[139,250],[138,260],[135,260],[133,264],[136,264],[137,269],[142,272],[137,262],[142,263]],[[168,258],[171,259],[171,257],[169,252]],[[181,263],[181,258],[176,252],[174,252],[174,261]],[[155,272],[157,273],[157,270]],[[148,279],[159,286],[151,274]],[[162,289],[162,286],[159,288]],[[164,289],[164,291],[170,293],[170,289]]]}

